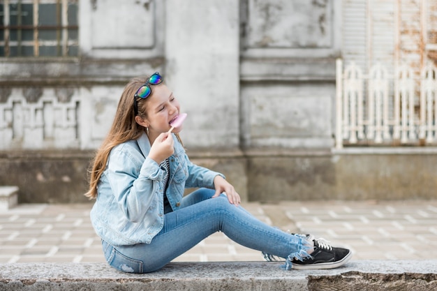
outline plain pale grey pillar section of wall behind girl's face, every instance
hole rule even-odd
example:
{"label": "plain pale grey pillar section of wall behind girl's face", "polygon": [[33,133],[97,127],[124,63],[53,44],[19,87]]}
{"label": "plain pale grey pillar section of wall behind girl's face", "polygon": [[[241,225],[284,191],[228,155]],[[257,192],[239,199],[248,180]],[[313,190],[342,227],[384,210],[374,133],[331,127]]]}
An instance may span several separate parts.
{"label": "plain pale grey pillar section of wall behind girl's face", "polygon": [[165,73],[187,147],[239,147],[239,1],[166,1]]}

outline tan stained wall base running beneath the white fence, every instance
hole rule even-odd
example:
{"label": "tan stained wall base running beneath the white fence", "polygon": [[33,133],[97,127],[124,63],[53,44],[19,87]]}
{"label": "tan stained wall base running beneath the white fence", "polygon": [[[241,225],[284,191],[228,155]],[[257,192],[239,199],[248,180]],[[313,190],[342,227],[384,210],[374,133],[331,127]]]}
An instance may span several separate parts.
{"label": "tan stained wall base running beneath the white fence", "polygon": [[249,200],[435,199],[436,154],[256,154]]}

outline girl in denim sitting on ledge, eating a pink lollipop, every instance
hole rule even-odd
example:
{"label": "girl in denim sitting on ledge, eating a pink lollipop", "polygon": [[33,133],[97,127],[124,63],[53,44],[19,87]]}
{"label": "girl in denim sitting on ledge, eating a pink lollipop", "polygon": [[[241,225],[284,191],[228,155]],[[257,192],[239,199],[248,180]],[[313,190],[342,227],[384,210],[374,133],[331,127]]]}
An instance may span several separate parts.
{"label": "girl in denim sitting on ledge, eating a pink lollipop", "polygon": [[[161,269],[214,232],[286,259],[286,269],[330,269],[351,253],[323,239],[288,234],[239,206],[225,177],[194,165],[170,122],[179,102],[163,77],[138,77],[121,94],[114,122],[98,149],[87,196],[96,198],[91,223],[108,263],[119,271]],[[183,197],[184,188],[198,190]]]}

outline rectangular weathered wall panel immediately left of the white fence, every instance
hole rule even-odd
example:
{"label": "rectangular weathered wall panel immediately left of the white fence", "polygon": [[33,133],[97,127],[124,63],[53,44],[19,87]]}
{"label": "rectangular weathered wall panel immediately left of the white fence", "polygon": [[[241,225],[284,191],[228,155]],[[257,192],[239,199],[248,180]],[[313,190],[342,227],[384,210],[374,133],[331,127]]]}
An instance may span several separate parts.
{"label": "rectangular weathered wall panel immediately left of the white fence", "polygon": [[334,84],[324,82],[245,84],[242,147],[331,148],[334,91]]}

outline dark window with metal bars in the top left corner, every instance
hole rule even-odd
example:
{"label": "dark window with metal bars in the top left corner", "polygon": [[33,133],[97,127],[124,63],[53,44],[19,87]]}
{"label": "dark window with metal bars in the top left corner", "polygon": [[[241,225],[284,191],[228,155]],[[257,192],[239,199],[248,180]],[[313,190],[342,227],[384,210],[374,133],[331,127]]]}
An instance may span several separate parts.
{"label": "dark window with metal bars in the top left corner", "polygon": [[0,1],[0,57],[77,56],[77,1]]}

